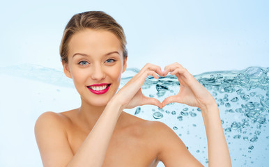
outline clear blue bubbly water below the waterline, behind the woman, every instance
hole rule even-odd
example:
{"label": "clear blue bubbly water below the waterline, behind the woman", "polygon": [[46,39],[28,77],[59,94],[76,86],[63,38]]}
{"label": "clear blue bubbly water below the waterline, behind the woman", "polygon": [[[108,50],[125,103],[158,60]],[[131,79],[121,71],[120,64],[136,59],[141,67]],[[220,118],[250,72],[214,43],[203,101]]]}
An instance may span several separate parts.
{"label": "clear blue bubbly water below the waterline, behind the woman", "polygon": [[[120,88],[138,71],[135,68],[126,70]],[[215,97],[219,106],[233,166],[267,165],[268,75],[266,67],[194,75]],[[45,111],[61,112],[78,107],[79,95],[72,80],[63,72],[39,65],[0,67],[0,76],[0,166],[17,166],[19,163],[13,157],[24,159],[20,161],[21,166],[41,166],[33,135],[34,122]],[[175,76],[148,77],[142,92],[162,101],[178,93],[179,88]],[[146,120],[166,123],[180,136],[194,157],[208,166],[206,132],[197,107],[175,103],[164,109],[146,105],[126,111]],[[158,166],[163,165],[160,163]]]}

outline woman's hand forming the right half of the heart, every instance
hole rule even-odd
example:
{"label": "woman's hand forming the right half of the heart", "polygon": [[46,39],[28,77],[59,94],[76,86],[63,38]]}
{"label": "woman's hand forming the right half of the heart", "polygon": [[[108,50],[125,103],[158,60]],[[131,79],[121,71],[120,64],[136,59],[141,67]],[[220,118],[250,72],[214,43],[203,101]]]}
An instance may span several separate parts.
{"label": "woman's hand forming the right half of the heart", "polygon": [[164,76],[168,73],[176,75],[180,83],[180,89],[177,95],[167,97],[162,106],[172,102],[197,106],[200,109],[215,103],[214,97],[204,88],[190,72],[179,63],[173,63],[164,67]]}

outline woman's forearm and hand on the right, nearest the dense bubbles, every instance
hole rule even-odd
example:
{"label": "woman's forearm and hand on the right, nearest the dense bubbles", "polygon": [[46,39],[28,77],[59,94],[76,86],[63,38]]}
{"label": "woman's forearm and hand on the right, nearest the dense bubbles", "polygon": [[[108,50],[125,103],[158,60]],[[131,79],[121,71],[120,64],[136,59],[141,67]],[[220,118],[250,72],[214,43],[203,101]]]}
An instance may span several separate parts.
{"label": "woman's forearm and hand on the right, nearest the dense bubbles", "polygon": [[[162,102],[162,106],[178,102],[199,107],[206,127],[208,166],[231,166],[231,158],[222,129],[220,112],[214,97],[182,65],[178,63],[167,65],[164,75],[169,72],[178,77],[180,90],[177,95],[167,97]],[[178,143],[178,145],[180,144]],[[169,150],[166,152],[169,152]]]}

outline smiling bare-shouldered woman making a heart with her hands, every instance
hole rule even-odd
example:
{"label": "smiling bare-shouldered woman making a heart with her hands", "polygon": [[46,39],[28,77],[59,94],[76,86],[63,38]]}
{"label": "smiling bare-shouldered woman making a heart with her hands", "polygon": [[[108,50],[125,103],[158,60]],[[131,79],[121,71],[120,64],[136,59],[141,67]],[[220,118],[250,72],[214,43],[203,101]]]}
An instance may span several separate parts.
{"label": "smiling bare-shouldered woman making a heart with her hands", "polygon": [[[74,15],[61,41],[64,73],[74,81],[82,105],[62,113],[45,112],[35,125],[44,166],[202,166],[162,122],[137,118],[123,109],[151,104],[162,109],[178,102],[201,109],[208,138],[208,165],[231,166],[217,104],[182,65],[164,71],[147,63],[121,90],[127,67],[122,27],[109,15],[91,11]],[[168,73],[180,82],[177,95],[162,103],[141,93],[148,75]]]}

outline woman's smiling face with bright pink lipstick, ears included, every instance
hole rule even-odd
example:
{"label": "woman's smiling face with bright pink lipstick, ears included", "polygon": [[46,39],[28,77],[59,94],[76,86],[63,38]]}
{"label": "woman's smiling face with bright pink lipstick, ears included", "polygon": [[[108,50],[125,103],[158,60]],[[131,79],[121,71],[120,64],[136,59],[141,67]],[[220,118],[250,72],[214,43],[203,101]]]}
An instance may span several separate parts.
{"label": "woman's smiling face with bright pink lipstick, ears included", "polygon": [[63,63],[63,69],[66,76],[73,79],[82,101],[105,106],[118,89],[126,61],[116,35],[85,29],[72,35],[68,63]]}

